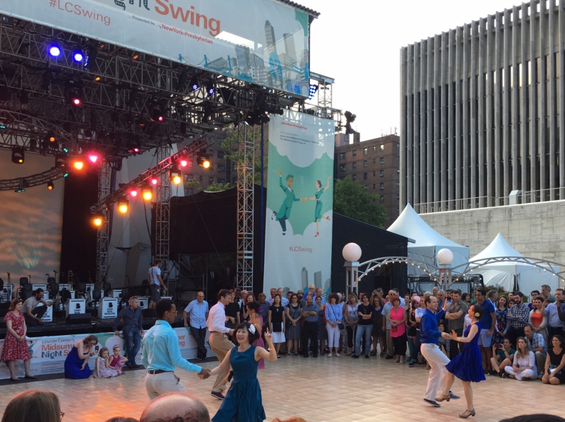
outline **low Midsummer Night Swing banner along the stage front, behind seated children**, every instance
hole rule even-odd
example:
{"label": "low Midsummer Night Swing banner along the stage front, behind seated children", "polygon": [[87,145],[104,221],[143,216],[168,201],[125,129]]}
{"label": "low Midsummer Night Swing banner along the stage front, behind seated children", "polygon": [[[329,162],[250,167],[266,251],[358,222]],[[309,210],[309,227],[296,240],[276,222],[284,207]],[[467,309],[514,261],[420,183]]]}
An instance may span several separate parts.
{"label": "low Midsummer Night Swing banner along the stage front, behind seated children", "polygon": [[[194,337],[189,334],[186,328],[175,328],[174,331],[179,337],[179,348],[181,349],[182,357],[185,359],[194,359],[198,353],[198,347]],[[73,348],[73,345],[80,339],[84,339],[89,334],[73,334],[69,336],[53,336],[53,337],[28,337],[28,346],[31,353],[31,373],[32,375],[47,375],[64,373],[66,356]],[[98,345],[100,348],[106,346],[112,351],[112,348],[119,344],[124,351],[124,339],[114,335],[114,333],[95,333],[98,337]],[[206,349],[208,358],[215,356],[215,353],[208,344],[208,336],[206,334]],[[4,346],[4,340],[0,340],[0,353]],[[141,356],[143,350],[140,349],[136,356],[136,362],[141,363]],[[88,366],[94,370],[96,365],[96,357],[90,358]],[[23,363],[18,361],[18,376],[23,377]],[[0,380],[10,377],[10,371],[6,365],[0,365]]]}

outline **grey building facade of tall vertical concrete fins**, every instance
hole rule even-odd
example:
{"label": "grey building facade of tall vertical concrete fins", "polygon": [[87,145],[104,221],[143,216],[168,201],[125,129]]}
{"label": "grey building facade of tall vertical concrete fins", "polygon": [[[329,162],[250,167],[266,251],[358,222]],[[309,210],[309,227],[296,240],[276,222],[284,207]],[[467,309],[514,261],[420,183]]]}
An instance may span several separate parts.
{"label": "grey building facade of tall vertical concrete fins", "polygon": [[[533,0],[400,50],[400,209],[565,199],[565,8]],[[454,239],[455,240],[455,239]]]}

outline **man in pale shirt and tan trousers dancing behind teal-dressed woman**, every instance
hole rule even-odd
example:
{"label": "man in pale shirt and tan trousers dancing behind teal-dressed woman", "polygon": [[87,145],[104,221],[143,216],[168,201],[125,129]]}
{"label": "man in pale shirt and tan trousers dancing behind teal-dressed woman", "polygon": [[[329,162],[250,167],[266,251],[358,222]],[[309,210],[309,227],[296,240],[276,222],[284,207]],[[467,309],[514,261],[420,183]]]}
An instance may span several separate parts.
{"label": "man in pale shirt and tan trousers dancing behind teal-dressed woman", "polygon": [[[210,331],[208,343],[220,362],[224,360],[227,352],[234,347],[234,344],[226,336],[226,334],[232,336],[234,330],[225,326],[225,305],[230,302],[231,294],[232,293],[228,290],[220,290],[220,293],[218,293],[218,303],[210,308],[208,320],[206,321],[206,326],[208,327],[208,331]],[[225,391],[229,374],[230,368],[228,367],[227,370],[220,370],[218,377],[216,377],[216,382],[210,394],[218,400],[225,399],[222,393]]]}

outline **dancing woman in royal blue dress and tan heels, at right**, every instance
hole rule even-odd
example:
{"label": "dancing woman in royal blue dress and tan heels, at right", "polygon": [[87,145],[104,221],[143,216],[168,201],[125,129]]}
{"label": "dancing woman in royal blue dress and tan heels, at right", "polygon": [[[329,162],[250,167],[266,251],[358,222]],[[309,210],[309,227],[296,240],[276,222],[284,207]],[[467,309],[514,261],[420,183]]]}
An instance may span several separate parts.
{"label": "dancing woman in royal blue dress and tan heels, at right", "polygon": [[481,327],[479,321],[484,311],[480,305],[472,305],[469,307],[468,315],[472,324],[465,329],[463,337],[458,337],[455,331],[451,332],[449,336],[451,340],[460,341],[465,343],[463,351],[459,353],[453,360],[446,365],[447,380],[444,394],[436,398],[437,402],[444,400],[449,402],[449,391],[453,385],[455,377],[458,377],[463,382],[463,389],[465,390],[465,399],[467,400],[467,410],[460,414],[460,418],[468,418],[475,416],[475,407],[472,404],[472,388],[471,382],[484,381],[484,371],[482,370],[482,356],[479,348],[479,338]]}

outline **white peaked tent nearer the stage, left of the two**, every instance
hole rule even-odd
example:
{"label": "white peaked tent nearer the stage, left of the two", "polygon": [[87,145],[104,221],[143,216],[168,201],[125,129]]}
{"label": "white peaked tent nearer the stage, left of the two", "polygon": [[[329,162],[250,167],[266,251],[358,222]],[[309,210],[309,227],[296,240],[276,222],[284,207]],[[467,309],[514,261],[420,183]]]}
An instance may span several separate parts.
{"label": "white peaked tent nearer the stage, left of the two", "polygon": [[[422,220],[410,204],[396,218],[396,221],[388,228],[388,231],[415,240],[415,243],[408,243],[408,257],[413,259],[419,259],[427,264],[438,266],[436,262],[437,252],[446,247],[453,252],[451,266],[465,264],[469,260],[468,247],[458,245],[456,242],[452,242],[437,233],[436,230]],[[408,275],[422,274],[424,272],[417,271],[416,266],[408,266]]]}

